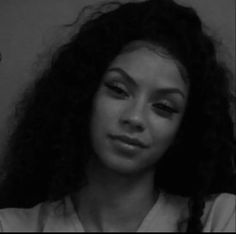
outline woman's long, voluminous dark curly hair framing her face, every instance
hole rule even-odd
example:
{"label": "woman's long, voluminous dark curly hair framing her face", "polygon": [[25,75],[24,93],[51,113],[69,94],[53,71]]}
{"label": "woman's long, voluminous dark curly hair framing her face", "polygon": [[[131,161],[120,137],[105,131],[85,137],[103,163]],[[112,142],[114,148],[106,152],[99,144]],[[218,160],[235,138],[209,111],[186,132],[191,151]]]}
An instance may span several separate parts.
{"label": "woman's long, voluminous dark curly hair framing her face", "polygon": [[[70,26],[81,19],[80,14]],[[197,13],[172,0],[107,2],[54,53],[16,106],[1,206],[57,200],[86,183],[94,94],[109,63],[136,40],[164,48],[184,66],[190,82],[178,137],[156,165],[155,185],[189,198],[187,231],[202,230],[208,195],[236,192],[230,72],[218,61]]]}

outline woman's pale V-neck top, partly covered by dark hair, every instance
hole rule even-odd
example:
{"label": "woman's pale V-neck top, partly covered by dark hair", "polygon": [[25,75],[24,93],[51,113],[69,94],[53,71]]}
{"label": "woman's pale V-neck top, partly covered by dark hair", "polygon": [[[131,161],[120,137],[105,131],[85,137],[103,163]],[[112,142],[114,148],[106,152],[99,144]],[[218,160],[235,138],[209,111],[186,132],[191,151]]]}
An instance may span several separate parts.
{"label": "woman's pale V-neck top, partly covered by dark hair", "polygon": [[[236,232],[236,196],[222,193],[206,202],[203,232]],[[177,232],[177,224],[188,217],[187,199],[161,193],[137,232]],[[182,225],[186,230],[186,222]],[[84,232],[70,196],[32,208],[0,210],[2,232]]]}

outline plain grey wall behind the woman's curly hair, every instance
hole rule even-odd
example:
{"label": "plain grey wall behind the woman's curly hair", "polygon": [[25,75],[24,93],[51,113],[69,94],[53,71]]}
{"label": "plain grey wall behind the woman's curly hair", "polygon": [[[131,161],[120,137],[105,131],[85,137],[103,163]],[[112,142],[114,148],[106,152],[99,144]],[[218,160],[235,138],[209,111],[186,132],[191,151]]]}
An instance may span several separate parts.
{"label": "plain grey wall behind the woman's curly hair", "polygon": [[[158,0],[157,0],[158,1]],[[0,0],[0,159],[14,103],[35,79],[42,52],[63,39],[60,25],[75,19],[85,4],[98,0]],[[178,0],[192,5],[222,41],[221,57],[235,74],[235,0]]]}

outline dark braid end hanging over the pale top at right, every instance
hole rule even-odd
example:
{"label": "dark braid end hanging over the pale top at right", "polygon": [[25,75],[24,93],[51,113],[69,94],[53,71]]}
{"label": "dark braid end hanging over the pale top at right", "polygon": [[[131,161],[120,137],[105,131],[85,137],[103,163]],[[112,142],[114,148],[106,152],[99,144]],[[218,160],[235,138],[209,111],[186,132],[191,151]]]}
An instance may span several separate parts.
{"label": "dark braid end hanging over the pale top at right", "polygon": [[189,200],[190,217],[188,219],[187,232],[202,232],[201,217],[205,208],[203,196],[194,196]]}

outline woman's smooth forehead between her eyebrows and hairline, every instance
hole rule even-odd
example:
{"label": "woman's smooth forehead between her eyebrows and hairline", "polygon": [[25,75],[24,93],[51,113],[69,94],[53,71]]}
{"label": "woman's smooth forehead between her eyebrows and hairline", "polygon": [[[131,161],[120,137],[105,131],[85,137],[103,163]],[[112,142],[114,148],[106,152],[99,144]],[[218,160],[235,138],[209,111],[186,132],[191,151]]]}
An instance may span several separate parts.
{"label": "woman's smooth forehead between her eyebrows and hairline", "polygon": [[170,56],[146,47],[123,50],[109,68],[118,67],[128,73],[138,83],[151,87],[186,86],[179,63]]}

